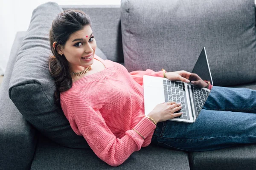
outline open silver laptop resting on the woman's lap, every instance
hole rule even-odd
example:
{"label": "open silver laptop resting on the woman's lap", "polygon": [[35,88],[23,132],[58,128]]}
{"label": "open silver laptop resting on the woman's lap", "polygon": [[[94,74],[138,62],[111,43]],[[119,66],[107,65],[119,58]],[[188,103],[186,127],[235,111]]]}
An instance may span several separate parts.
{"label": "open silver laptop resting on the woman's lap", "polygon": [[[181,103],[181,116],[170,121],[193,123],[197,119],[213,87],[211,71],[205,47],[202,49],[197,62],[189,77],[190,82],[170,81],[167,78],[143,76],[144,106],[147,116],[154,107],[163,102]],[[195,81],[198,85],[193,85]]]}

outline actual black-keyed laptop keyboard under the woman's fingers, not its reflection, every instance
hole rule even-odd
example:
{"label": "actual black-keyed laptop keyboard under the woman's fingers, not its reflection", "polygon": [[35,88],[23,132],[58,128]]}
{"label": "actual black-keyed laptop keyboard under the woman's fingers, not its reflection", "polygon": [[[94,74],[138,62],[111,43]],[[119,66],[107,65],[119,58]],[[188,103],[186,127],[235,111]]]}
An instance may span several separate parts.
{"label": "actual black-keyed laptop keyboard under the woman's fingers, not its reflection", "polygon": [[184,83],[173,82],[170,80],[163,80],[163,88],[164,88],[165,102],[173,101],[176,103],[181,103],[182,108],[175,113],[182,112],[183,114],[175,118],[189,120],[190,119],[189,112],[186,109],[187,105],[185,103],[186,92],[185,92]]}

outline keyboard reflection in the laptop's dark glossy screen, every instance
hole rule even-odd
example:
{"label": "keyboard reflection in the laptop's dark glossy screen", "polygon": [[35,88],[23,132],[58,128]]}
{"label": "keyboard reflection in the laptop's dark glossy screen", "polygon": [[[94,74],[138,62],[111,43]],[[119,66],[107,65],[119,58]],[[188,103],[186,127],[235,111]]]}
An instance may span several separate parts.
{"label": "keyboard reflection in the laptop's dark glossy screen", "polygon": [[201,108],[204,105],[204,102],[206,101],[206,98],[209,92],[202,88],[197,88],[194,85],[192,85],[191,88],[192,88],[192,92],[194,91],[194,93],[192,93],[193,94],[192,96],[194,97],[194,101],[195,101],[196,116],[198,116]]}

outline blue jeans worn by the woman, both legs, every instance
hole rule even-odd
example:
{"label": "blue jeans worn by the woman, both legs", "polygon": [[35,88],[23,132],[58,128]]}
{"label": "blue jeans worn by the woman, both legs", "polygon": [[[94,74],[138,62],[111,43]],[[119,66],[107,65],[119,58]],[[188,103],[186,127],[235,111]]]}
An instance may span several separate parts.
{"label": "blue jeans worn by the woman, both legs", "polygon": [[189,152],[256,143],[256,91],[214,86],[194,123],[158,122],[152,144]]}

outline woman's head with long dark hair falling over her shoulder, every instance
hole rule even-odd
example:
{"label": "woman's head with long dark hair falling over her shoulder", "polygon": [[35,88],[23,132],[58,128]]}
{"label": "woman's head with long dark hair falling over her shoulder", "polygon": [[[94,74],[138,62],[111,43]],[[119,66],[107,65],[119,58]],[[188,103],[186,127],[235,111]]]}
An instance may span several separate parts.
{"label": "woman's head with long dark hair falling over her shoulder", "polygon": [[55,102],[58,104],[60,92],[70,89],[72,82],[92,67],[96,41],[90,17],[79,10],[58,14],[52,22],[49,38],[53,54],[49,59],[49,69],[56,80]]}

